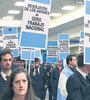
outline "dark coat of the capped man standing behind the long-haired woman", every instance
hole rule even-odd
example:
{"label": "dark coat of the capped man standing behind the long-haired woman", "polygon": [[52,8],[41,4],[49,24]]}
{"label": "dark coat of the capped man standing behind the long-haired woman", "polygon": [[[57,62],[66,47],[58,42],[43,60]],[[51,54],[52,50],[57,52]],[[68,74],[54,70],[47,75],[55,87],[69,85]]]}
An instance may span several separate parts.
{"label": "dark coat of the capped man standing behind the long-haired woman", "polygon": [[46,88],[46,73],[43,67],[39,67],[39,73],[36,75],[33,74],[34,68],[30,71],[30,77],[31,77],[31,84],[33,91],[37,97],[39,97],[41,100],[44,100],[45,98],[45,92]]}

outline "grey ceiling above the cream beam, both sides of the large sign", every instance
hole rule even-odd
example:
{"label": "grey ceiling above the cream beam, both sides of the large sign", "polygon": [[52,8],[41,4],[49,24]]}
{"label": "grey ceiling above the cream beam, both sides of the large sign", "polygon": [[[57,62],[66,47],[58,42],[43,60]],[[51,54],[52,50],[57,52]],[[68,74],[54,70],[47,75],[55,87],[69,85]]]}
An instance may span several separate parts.
{"label": "grey ceiling above the cream beam, both sides of the large sign", "polygon": [[[22,19],[23,7],[16,7],[14,4],[17,1],[24,2],[24,0],[0,0],[0,19],[2,19],[4,16],[7,16],[8,15],[7,12],[9,10],[20,10],[21,13],[15,15],[14,20]],[[68,11],[61,10],[63,6],[73,5],[76,7],[80,7],[83,5],[83,2],[84,0],[52,0],[51,13],[62,13],[62,14],[67,13]]]}

